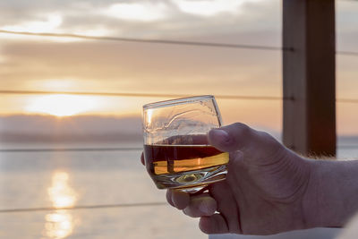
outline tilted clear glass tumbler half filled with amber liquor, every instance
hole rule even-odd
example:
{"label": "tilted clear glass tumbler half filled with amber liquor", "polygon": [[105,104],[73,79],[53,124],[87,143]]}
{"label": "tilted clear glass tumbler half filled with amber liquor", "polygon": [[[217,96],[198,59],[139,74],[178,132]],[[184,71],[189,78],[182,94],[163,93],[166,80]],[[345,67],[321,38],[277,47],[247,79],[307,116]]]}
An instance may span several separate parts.
{"label": "tilted clear glass tumbler half filled with amber liquor", "polygon": [[209,130],[221,124],[213,96],[143,106],[145,164],[159,189],[192,193],[226,178],[229,155],[207,139]]}

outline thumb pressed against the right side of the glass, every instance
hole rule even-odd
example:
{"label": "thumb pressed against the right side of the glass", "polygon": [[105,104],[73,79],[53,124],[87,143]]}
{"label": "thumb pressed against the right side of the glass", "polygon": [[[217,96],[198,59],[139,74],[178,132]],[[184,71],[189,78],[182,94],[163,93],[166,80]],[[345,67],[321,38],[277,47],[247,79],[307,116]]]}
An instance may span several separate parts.
{"label": "thumb pressed against the right side of the glass", "polygon": [[210,145],[226,152],[240,150],[252,154],[279,147],[279,143],[268,133],[256,131],[241,123],[211,130],[208,133],[208,140]]}

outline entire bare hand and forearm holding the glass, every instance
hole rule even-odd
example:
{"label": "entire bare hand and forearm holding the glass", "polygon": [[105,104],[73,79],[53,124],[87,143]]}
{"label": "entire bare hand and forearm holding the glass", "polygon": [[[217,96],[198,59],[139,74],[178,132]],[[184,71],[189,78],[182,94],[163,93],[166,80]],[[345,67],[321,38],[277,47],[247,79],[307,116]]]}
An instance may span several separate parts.
{"label": "entire bare hand and forearm holding the glass", "polygon": [[268,133],[239,123],[211,130],[208,140],[230,153],[226,180],[199,194],[166,192],[170,205],[200,218],[206,234],[272,235],[343,226],[357,208],[356,162],[303,158]]}

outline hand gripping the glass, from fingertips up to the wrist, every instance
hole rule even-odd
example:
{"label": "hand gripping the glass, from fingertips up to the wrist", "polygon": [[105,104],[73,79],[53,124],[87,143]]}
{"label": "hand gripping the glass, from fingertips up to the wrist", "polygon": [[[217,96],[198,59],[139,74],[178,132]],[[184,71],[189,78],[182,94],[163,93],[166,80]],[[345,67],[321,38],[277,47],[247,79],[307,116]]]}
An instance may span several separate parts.
{"label": "hand gripping the glass, from fingertips up to the wrist", "polygon": [[230,152],[226,181],[190,195],[168,190],[166,200],[200,218],[207,234],[271,235],[311,227],[306,192],[311,162],[266,132],[231,124],[208,134],[209,143]]}

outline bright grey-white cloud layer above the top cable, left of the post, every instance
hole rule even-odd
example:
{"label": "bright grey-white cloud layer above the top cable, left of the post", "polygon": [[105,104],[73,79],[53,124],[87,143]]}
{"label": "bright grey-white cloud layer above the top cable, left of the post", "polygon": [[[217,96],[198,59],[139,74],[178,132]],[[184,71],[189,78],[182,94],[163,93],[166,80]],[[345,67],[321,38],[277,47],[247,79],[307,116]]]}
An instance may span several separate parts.
{"label": "bright grey-white cloud layer above the top cable, left of the post", "polygon": [[[277,0],[58,0],[31,4],[8,0],[0,4],[0,14],[3,16],[0,28],[31,30],[29,26],[34,24],[50,24],[50,15],[57,14],[63,21],[52,31],[79,33],[94,28],[122,37],[178,38],[258,30],[262,27],[277,30],[280,21]],[[262,24],[261,19],[266,19],[265,24]]]}

